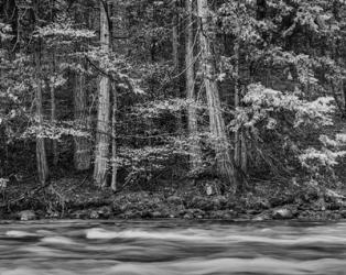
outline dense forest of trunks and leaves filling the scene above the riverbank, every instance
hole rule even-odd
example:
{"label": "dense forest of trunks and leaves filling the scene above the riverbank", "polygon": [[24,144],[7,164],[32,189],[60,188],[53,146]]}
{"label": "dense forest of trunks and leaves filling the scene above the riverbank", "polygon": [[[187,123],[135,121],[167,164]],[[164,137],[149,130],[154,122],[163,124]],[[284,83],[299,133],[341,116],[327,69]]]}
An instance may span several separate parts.
{"label": "dense forest of trunks and leaves filling the scene above the riverbank", "polygon": [[2,212],[346,216],[344,0],[1,0],[0,38]]}

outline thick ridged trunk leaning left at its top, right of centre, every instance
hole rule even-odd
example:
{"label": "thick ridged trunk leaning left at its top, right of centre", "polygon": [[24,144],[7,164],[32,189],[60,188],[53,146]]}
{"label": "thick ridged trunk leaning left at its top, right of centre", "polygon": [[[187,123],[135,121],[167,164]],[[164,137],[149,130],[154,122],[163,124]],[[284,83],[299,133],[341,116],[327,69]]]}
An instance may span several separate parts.
{"label": "thick ridged trunk leaning left at its top, right of centre", "polygon": [[216,82],[216,68],[212,52],[212,40],[214,32],[210,25],[210,15],[207,0],[197,0],[198,16],[201,19],[199,43],[202,51],[202,66],[204,73],[204,85],[209,110],[209,127],[212,138],[215,140],[216,165],[219,176],[229,180],[236,188],[238,176],[230,155],[225,121],[223,118],[221,103]]}

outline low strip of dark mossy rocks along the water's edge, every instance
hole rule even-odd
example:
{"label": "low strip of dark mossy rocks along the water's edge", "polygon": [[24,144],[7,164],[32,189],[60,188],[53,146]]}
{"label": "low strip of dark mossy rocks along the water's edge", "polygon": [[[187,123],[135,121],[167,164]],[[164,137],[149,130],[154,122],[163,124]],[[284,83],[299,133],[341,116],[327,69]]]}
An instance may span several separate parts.
{"label": "low strip of dark mossy rocks along the water's edge", "polygon": [[3,213],[2,219],[186,219],[227,221],[328,221],[346,219],[344,201],[260,200],[248,204],[226,196],[169,196],[136,193],[118,195],[108,201],[74,201],[60,211],[25,209]]}

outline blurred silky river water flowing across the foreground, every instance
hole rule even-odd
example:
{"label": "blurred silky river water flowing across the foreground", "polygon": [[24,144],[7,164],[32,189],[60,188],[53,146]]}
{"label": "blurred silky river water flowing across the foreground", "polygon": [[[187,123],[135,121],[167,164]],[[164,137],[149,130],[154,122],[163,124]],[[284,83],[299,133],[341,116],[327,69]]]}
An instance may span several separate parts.
{"label": "blurred silky river water flowing across the foreground", "polygon": [[2,222],[0,274],[346,274],[346,222]]}

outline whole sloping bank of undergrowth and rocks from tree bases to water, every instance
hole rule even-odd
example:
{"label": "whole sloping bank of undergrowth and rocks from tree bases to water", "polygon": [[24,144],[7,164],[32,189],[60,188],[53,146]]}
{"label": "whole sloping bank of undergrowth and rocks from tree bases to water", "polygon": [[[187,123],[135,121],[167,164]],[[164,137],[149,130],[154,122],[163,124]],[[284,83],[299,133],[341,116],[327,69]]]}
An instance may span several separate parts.
{"label": "whole sloping bank of undergrowth and rocks from tree bases to water", "polygon": [[[298,219],[309,221],[346,218],[346,190],[318,189],[295,183],[260,182],[244,196],[219,195],[215,183],[167,183],[155,190],[112,194],[87,177],[13,184],[2,194],[1,219]],[[209,188],[209,189],[208,189]],[[208,189],[206,191],[206,189]],[[208,195],[206,194],[208,193]]]}

